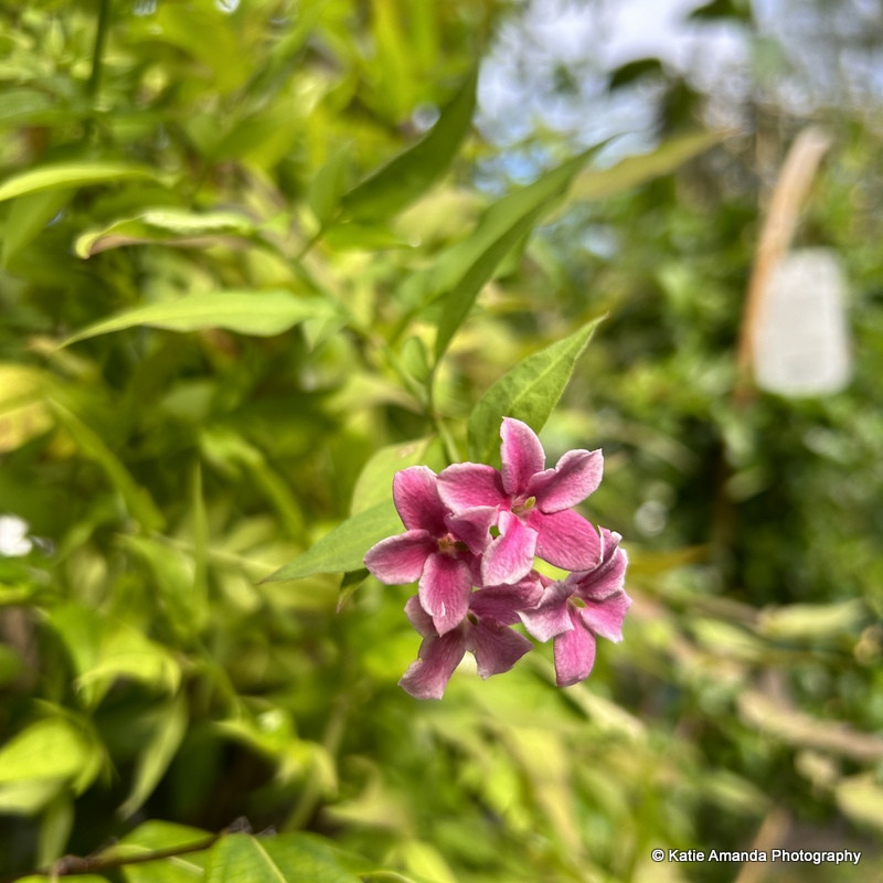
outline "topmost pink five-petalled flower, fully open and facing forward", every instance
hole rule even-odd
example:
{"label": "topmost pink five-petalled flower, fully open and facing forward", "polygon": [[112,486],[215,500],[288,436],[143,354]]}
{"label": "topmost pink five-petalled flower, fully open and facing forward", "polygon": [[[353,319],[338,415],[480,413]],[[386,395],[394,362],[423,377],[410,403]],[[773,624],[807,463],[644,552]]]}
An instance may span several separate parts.
{"label": "topmost pink five-petalled flower, fully open and facing forward", "polygon": [[453,512],[492,507],[496,536],[483,551],[485,585],[517,583],[530,573],[534,555],[567,570],[587,570],[597,561],[595,529],[572,507],[600,483],[600,450],[568,450],[552,469],[533,429],[504,417],[502,470],[474,462],[454,464],[438,476],[438,494]]}

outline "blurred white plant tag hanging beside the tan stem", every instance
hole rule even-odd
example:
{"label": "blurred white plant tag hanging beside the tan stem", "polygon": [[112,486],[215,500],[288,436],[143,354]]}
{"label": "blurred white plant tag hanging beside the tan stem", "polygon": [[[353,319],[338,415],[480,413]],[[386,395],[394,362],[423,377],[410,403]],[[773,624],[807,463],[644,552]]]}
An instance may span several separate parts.
{"label": "blurred white plant tag hanging beside the tan stem", "polygon": [[754,338],[762,390],[810,396],[840,392],[852,374],[845,278],[830,248],[790,252],[773,267]]}

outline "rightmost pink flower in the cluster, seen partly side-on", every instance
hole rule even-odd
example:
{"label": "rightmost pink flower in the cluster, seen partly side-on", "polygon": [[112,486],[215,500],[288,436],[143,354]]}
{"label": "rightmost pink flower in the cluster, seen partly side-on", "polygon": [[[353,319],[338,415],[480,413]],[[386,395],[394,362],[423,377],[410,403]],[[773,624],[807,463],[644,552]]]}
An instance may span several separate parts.
{"label": "rightmost pink flower in the cluster, seen partly side-on", "polygon": [[623,620],[631,599],[624,591],[628,560],[619,547],[621,539],[602,528],[596,565],[556,583],[544,581],[540,603],[519,614],[536,640],[555,639],[558,687],[570,687],[589,675],[597,635],[623,640]]}

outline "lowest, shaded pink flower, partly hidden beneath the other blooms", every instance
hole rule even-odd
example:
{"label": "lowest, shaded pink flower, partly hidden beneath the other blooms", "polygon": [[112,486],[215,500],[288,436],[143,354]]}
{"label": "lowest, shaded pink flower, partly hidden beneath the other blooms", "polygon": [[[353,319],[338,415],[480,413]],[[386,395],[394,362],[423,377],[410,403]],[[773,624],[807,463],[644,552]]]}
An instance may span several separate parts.
{"label": "lowest, shaded pink flower, partly hidden beneath the other blooms", "polygon": [[[475,655],[482,678],[509,671],[532,649],[523,635],[508,627],[518,621],[514,607],[534,604],[539,592],[539,585],[530,582],[523,586],[479,589],[472,594],[466,618],[444,635],[439,635],[419,599],[409,598],[405,614],[423,641],[418,659],[402,675],[400,687],[415,699],[442,699],[467,650]],[[498,614],[503,614],[504,619],[498,619]]]}

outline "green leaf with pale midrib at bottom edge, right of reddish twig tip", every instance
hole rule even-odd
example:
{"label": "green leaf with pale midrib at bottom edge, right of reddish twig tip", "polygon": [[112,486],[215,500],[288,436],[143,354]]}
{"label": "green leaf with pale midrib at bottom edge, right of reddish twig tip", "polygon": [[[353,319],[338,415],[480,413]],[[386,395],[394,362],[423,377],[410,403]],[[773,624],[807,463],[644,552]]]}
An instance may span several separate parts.
{"label": "green leaf with pale midrib at bottom edge, right of reddish twig tip", "polygon": [[215,843],[205,883],[360,883],[334,850],[304,833],[230,834]]}

